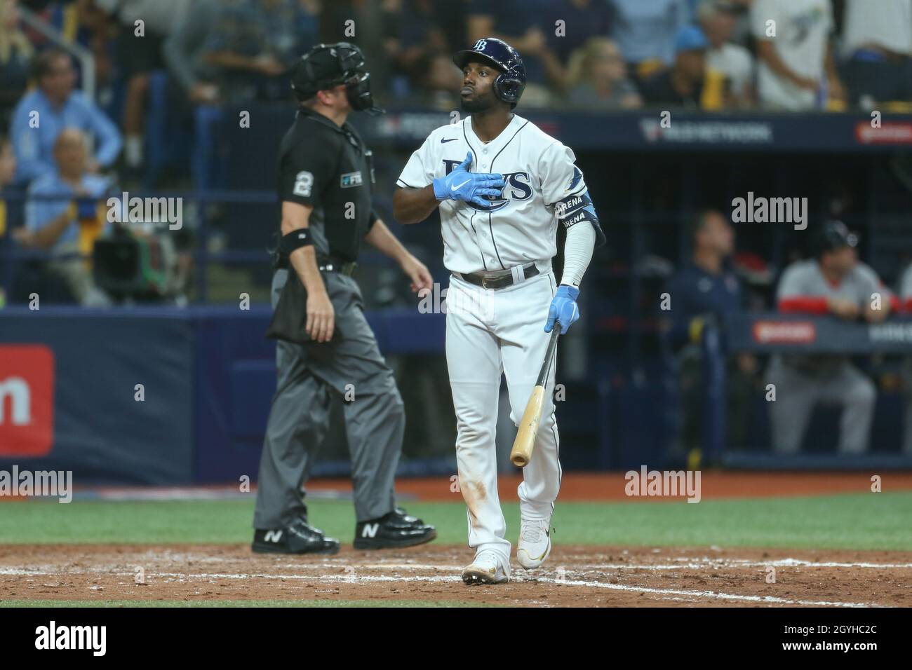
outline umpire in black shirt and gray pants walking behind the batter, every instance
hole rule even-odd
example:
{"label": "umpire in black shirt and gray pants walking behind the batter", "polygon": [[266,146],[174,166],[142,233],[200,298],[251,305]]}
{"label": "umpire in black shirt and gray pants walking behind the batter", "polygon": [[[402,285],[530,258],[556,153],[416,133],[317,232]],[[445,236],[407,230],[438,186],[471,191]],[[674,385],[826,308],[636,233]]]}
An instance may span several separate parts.
{"label": "umpire in black shirt and gray pants walking behind the batter", "polygon": [[302,495],[333,394],[345,398],[355,548],[405,547],[437,536],[395,505],[405,412],[354,279],[367,240],[399,263],[412,291],[432,287],[428,268],[371,209],[371,152],[346,122],[353,109],[380,112],[364,66],[358,46],[340,42],[313,47],[291,72],[300,104],[279,149],[282,222],[270,333],[279,339],[278,387],[260,459],[253,551],[338,551],[337,540],[308,523]]}

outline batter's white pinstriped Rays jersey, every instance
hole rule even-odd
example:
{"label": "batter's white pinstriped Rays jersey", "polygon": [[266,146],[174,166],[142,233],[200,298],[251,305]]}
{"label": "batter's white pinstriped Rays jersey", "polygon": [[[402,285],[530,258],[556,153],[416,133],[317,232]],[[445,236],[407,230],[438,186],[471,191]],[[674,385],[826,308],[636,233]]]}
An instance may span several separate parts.
{"label": "batter's white pinstriped Rays jersey", "polygon": [[447,270],[479,273],[550,263],[557,253],[555,204],[586,192],[574,152],[516,114],[485,144],[472,131],[471,119],[431,132],[412,153],[397,185],[424,188],[449,174],[471,151],[470,172],[499,173],[506,183],[490,210],[470,202],[440,202]]}

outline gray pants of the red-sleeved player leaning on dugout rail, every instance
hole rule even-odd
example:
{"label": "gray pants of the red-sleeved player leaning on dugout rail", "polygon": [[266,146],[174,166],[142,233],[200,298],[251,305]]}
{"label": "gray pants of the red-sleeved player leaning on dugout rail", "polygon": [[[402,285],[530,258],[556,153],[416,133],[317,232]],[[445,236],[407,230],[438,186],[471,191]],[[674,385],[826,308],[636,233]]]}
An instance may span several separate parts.
{"label": "gray pants of the red-sleeved player leaning on dugout rail", "polygon": [[877,392],[874,382],[851,363],[811,373],[774,357],[766,381],[776,387],[776,400],[770,403],[773,450],[798,452],[818,402],[843,407],[839,420],[840,453],[861,454],[867,450]]}

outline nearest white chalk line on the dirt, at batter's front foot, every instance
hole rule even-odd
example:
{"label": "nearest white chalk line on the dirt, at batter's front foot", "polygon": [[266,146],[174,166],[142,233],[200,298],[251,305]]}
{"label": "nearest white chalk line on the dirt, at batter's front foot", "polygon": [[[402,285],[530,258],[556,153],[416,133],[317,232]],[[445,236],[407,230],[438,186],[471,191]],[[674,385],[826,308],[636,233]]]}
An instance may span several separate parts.
{"label": "nearest white chalk line on the dirt, at batter's front foot", "polygon": [[[361,566],[362,568],[365,566]],[[432,566],[433,568],[439,568],[440,566]],[[79,574],[87,573],[89,571],[75,571],[75,572],[65,572],[63,574]],[[94,572],[94,571],[92,571]],[[134,572],[113,572],[108,571],[108,574],[119,575],[122,577],[133,577]],[[28,571],[23,569],[0,569],[0,574],[16,574],[16,575],[29,575],[29,576],[62,576],[61,572],[35,572]],[[331,582],[331,583],[351,583],[355,584],[358,582],[461,582],[461,576],[451,574],[451,575],[435,575],[435,576],[424,576],[424,575],[415,575],[409,577],[401,576],[390,576],[390,575],[306,575],[306,574],[270,574],[265,572],[201,572],[201,573],[185,573],[185,572],[148,572],[148,577],[156,578],[169,578],[166,582],[186,582],[188,580],[216,580],[216,579],[232,579],[232,580],[245,580],[245,579],[270,579],[270,580],[305,580],[305,581],[318,581],[318,582]],[[652,593],[662,597],[663,599],[667,596],[689,596],[690,598],[708,598],[710,600],[724,600],[724,601],[734,601],[742,603],[767,603],[767,604],[787,604],[787,605],[807,605],[807,606],[817,606],[817,607],[882,607],[878,603],[842,603],[834,601],[807,601],[807,600],[791,600],[788,598],[780,598],[777,596],[767,595],[742,595],[737,593],[720,593],[715,591],[691,591],[688,589],[657,589],[648,586],[636,586],[628,584],[616,584],[610,582],[591,582],[585,580],[569,580],[569,579],[554,579],[550,577],[535,577],[534,579],[519,579],[514,578],[513,582],[535,582],[535,583],[551,583],[560,586],[583,586],[586,588],[596,588],[596,589],[607,589],[611,591],[626,591],[630,593]]]}

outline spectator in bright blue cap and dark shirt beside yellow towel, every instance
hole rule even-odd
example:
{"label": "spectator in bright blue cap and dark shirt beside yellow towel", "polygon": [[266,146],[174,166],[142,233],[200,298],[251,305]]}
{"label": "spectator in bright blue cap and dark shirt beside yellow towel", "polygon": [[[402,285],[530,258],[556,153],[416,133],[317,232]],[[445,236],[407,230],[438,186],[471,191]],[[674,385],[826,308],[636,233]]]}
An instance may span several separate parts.
{"label": "spectator in bright blue cap and dark shirt beside yellow towel", "polygon": [[675,64],[646,79],[640,92],[647,104],[718,110],[728,101],[727,81],[706,67],[710,46],[697,26],[681,28],[675,39]]}

